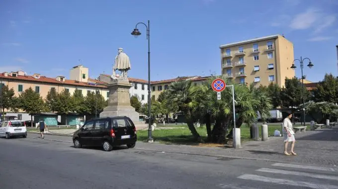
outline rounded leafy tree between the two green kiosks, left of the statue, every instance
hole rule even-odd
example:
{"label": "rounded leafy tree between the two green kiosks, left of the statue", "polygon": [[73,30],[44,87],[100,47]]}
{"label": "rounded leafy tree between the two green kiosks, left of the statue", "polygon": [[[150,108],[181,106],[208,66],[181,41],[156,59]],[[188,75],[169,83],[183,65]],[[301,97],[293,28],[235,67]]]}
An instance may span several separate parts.
{"label": "rounded leafy tree between the two green kiosks, left of the statue", "polygon": [[59,114],[68,114],[73,110],[73,101],[71,94],[63,90],[61,93],[57,95],[57,99],[55,102],[55,111]]}

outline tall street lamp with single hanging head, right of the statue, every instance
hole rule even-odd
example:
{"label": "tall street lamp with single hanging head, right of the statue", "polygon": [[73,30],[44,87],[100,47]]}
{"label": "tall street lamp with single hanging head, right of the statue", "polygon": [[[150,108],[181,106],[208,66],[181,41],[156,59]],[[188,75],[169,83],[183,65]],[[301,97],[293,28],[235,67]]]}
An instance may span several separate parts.
{"label": "tall street lamp with single hanging head, right of the statue", "polygon": [[151,97],[150,97],[150,26],[149,26],[150,21],[148,20],[148,26],[143,23],[139,22],[136,24],[135,29],[133,32],[131,32],[132,35],[137,38],[139,35],[141,35],[141,32],[139,29],[137,29],[137,25],[143,24],[147,28],[147,39],[148,39],[148,142],[154,142],[153,137],[152,137],[152,126],[151,126]]}

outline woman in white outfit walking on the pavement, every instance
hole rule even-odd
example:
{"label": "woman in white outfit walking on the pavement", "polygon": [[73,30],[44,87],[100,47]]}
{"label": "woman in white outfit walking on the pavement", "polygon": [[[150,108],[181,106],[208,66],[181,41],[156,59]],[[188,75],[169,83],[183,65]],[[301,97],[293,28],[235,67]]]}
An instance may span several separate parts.
{"label": "woman in white outfit walking on the pavement", "polygon": [[[296,156],[297,154],[293,151],[293,148],[295,147],[295,132],[293,131],[293,127],[292,127],[292,123],[291,123],[291,117],[292,117],[292,113],[289,113],[287,117],[285,117],[284,119],[284,122],[283,122],[283,131],[284,131],[284,154],[287,155],[287,156],[290,156],[290,155],[294,155]],[[291,151],[289,154],[287,152],[287,147],[288,147],[288,144],[289,142],[292,142],[291,143]]]}

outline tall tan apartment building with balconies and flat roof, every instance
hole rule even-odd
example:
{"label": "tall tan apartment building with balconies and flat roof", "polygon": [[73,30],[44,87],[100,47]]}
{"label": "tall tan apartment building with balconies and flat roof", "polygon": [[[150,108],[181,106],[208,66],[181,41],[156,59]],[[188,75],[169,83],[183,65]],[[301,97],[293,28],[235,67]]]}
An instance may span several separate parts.
{"label": "tall tan apartment building with balconies and flat roof", "polygon": [[284,86],[295,77],[291,69],[293,44],[284,36],[271,35],[221,45],[222,75],[239,84]]}

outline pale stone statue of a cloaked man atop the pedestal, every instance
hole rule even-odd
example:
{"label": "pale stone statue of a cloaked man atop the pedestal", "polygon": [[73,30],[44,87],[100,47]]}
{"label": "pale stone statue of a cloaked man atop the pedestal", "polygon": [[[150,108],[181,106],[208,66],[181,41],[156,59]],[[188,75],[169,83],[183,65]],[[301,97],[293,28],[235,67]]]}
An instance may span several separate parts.
{"label": "pale stone statue of a cloaked man atop the pedestal", "polygon": [[121,71],[121,76],[127,78],[128,70],[131,69],[129,57],[123,52],[122,48],[118,49],[118,54],[115,57],[115,64],[113,66],[112,78],[116,77],[116,70]]}

